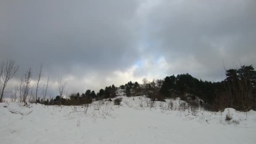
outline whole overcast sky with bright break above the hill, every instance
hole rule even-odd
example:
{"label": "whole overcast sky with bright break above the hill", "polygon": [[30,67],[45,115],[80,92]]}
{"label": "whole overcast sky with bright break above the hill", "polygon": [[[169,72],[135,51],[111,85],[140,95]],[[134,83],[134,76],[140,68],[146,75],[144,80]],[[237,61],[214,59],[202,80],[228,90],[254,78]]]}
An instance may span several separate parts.
{"label": "whole overcast sky with bright break above the hill", "polygon": [[[69,93],[189,73],[222,80],[256,66],[256,0],[0,0],[0,61]],[[32,82],[34,85],[34,82]],[[40,89],[42,91],[42,88]]]}

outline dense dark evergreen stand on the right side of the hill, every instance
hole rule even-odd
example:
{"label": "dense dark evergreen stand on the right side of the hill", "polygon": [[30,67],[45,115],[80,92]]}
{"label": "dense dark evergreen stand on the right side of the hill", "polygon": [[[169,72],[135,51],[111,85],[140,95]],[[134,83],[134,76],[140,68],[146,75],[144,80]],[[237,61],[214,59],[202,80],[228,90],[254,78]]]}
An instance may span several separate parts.
{"label": "dense dark evergreen stand on the right side of the hill", "polygon": [[256,109],[256,71],[250,66],[226,70],[221,82],[198,80],[189,74],[165,77],[160,93],[165,97],[190,94],[205,101],[209,110],[227,107],[240,111]]}

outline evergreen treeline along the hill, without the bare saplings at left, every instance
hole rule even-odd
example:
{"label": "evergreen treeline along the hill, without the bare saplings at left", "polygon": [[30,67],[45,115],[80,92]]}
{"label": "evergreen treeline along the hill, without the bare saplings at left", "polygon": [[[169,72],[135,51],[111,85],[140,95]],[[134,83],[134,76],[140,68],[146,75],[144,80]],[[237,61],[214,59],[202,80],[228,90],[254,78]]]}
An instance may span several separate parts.
{"label": "evergreen treeline along the hill, without the bare saplings at left", "polygon": [[[131,81],[120,85],[126,96],[146,95],[152,101],[165,101],[165,98],[180,97],[187,101],[196,97],[202,99],[200,105],[205,109],[218,111],[227,107],[240,111],[256,110],[256,71],[250,66],[241,66],[237,69],[226,70],[226,78],[221,82],[198,80],[189,74],[171,75],[164,80],[149,82],[146,78],[143,84]],[[98,93],[87,90],[85,93],[73,93],[68,99],[56,96],[55,99],[39,101],[42,104],[80,105],[88,104],[94,100],[115,98],[117,87],[115,85],[100,89]]]}

